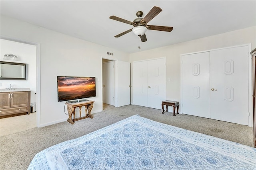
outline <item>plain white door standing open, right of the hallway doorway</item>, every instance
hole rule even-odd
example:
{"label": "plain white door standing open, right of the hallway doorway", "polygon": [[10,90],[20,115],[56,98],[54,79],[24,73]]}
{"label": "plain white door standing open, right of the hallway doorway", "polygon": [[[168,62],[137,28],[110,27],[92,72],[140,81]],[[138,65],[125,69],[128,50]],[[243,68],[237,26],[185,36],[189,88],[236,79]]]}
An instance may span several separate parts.
{"label": "plain white door standing open, right of the hallway doorway", "polygon": [[131,104],[130,63],[116,61],[116,107]]}

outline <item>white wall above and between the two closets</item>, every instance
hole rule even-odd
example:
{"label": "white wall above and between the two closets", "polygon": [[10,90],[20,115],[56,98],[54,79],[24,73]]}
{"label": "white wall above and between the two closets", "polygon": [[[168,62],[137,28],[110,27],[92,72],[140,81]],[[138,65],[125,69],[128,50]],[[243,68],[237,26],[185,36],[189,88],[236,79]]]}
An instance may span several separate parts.
{"label": "white wall above and between the two closets", "polygon": [[[133,76],[132,64],[134,61],[166,57],[166,100],[180,101],[181,54],[218,49],[235,45],[243,45],[248,43],[251,43],[251,49],[256,48],[255,26],[210,37],[195,39],[184,43],[178,43],[166,47],[160,47],[148,51],[142,51],[139,53],[132,53],[130,54],[131,76]],[[131,83],[133,83],[132,78]],[[133,93],[133,91],[131,93]],[[131,97],[131,102],[133,102],[133,94]]]}

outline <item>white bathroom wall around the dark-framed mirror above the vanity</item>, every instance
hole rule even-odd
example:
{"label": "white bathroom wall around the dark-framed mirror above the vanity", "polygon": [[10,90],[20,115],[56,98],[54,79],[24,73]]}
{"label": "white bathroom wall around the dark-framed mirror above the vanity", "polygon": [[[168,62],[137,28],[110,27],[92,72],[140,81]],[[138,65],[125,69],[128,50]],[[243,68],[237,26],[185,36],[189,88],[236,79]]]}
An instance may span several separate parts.
{"label": "white bathroom wall around the dark-framed mirror above the vanity", "polygon": [[[30,88],[30,101],[36,102],[36,46],[0,39],[0,49],[0,61],[28,64],[27,80],[1,80],[0,88]],[[18,61],[3,59],[6,54],[16,55]]]}

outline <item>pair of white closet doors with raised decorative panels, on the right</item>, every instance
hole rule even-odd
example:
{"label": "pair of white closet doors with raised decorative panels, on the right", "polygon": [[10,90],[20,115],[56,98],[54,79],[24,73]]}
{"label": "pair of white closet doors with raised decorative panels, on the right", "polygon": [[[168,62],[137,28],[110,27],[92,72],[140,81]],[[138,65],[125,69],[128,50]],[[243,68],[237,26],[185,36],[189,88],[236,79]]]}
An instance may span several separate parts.
{"label": "pair of white closet doors with raised decorative panels, on the right", "polygon": [[182,113],[248,125],[248,46],[182,56]]}

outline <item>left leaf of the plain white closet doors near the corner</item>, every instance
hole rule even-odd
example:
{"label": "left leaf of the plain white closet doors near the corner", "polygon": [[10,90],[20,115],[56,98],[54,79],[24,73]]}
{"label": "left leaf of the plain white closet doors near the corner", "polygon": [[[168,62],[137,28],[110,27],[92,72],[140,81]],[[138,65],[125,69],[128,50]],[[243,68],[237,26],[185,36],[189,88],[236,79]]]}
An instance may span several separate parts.
{"label": "left leaf of the plain white closet doors near the corner", "polygon": [[148,107],[148,61],[133,63],[133,104]]}

